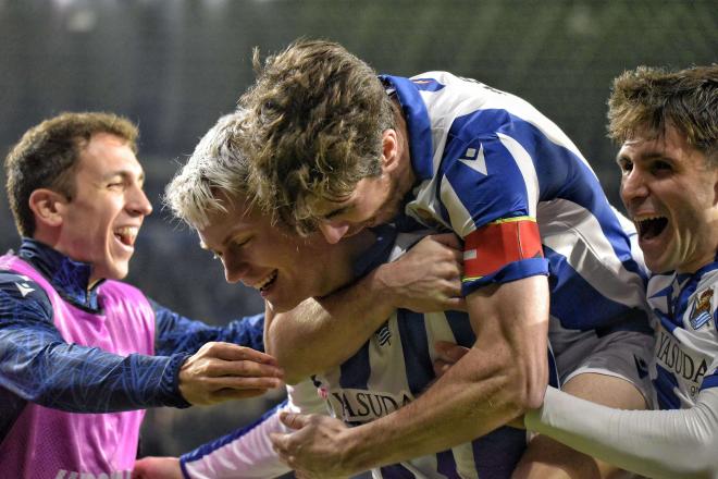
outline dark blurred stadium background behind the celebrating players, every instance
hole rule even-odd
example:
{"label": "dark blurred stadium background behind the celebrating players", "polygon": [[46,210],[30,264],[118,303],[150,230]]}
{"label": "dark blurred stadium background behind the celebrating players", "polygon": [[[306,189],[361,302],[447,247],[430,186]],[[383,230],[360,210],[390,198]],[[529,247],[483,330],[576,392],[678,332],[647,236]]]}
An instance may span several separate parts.
{"label": "dark blurred stadium background behind the celebrating players", "polygon": [[[610,82],[640,64],[718,61],[718,0],[0,0],[2,156],[61,111],[127,115],[156,206],[129,282],[209,322],[259,312],[258,295],[225,284],[159,197],[252,82],[252,48],[267,54],[299,36],[339,41],[380,73],[448,70],[525,98],[568,133],[618,205]],[[4,195],[0,232],[0,250],[17,244]],[[185,452],[278,400],[152,410],[144,451]]]}

